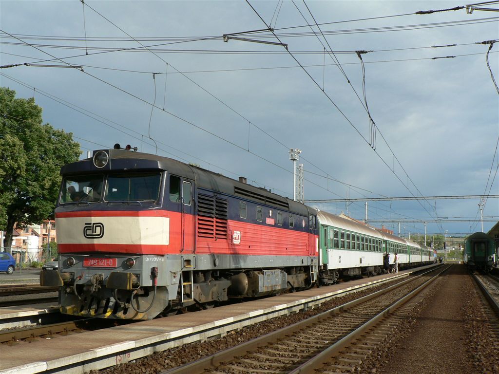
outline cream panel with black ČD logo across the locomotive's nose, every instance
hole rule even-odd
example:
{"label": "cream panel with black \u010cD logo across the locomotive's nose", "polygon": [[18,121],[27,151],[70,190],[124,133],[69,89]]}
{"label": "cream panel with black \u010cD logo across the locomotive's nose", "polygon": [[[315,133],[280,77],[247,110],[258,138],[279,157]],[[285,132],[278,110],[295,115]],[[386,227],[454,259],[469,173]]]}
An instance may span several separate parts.
{"label": "cream panel with black \u010cD logo across the locomotive's nose", "polygon": [[168,245],[168,217],[64,217],[56,218],[59,244]]}

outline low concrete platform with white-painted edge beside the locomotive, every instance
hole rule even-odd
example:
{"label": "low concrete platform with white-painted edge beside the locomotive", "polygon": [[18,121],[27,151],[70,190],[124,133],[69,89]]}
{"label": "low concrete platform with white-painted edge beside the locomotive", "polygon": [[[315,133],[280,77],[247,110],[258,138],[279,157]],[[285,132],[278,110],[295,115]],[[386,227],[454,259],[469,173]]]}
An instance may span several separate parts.
{"label": "low concrete platform with white-painted edge beside the locomotive", "polygon": [[2,346],[0,374],[45,371],[83,374],[156,351],[223,336],[271,317],[311,309],[345,292],[406,277],[412,272],[414,269],[105,330]]}

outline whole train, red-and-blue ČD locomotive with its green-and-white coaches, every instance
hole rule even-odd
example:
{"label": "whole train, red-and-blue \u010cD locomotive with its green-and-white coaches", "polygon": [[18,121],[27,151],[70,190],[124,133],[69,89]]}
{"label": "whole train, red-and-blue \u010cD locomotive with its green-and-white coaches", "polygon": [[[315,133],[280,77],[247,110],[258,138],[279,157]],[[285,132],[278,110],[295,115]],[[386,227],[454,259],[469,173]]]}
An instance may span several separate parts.
{"label": "whole train, red-and-blue \u010cD locomotive with its green-and-white coaches", "polygon": [[[119,147],[116,147],[119,148]],[[64,314],[152,319],[435,262],[431,248],[194,165],[122,149],[65,165],[55,209]]]}

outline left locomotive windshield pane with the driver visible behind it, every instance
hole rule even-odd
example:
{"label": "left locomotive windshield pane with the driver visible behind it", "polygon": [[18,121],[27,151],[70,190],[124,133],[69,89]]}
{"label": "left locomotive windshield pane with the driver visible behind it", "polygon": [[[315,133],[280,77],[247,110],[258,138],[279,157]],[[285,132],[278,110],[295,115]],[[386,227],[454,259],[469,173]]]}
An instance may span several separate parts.
{"label": "left locomotive windshield pane with the driver visible behind it", "polygon": [[64,179],[60,202],[96,202],[102,195],[104,176],[78,176]]}

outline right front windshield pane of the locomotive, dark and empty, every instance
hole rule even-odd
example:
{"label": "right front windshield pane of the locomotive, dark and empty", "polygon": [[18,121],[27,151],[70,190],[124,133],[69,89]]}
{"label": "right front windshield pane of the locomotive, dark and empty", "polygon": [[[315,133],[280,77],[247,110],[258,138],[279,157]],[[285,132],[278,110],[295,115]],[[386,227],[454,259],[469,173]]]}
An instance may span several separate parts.
{"label": "right front windshield pane of the locomotive, dark and empty", "polygon": [[113,174],[107,177],[105,201],[157,200],[160,173]]}

